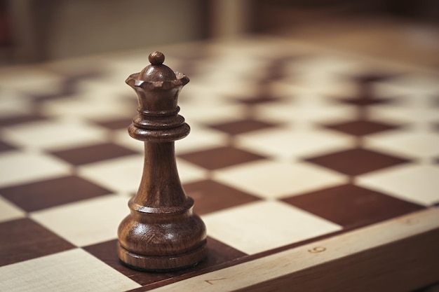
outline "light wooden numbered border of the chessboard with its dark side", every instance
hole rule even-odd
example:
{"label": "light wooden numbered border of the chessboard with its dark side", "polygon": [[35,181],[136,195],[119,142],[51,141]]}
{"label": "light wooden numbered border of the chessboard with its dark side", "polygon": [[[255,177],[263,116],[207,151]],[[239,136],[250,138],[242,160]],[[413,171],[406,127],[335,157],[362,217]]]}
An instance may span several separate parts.
{"label": "light wooden numbered border of the chessboard with its dark side", "polygon": [[[360,240],[358,240],[360,238]],[[133,291],[412,291],[439,279],[439,209]],[[257,283],[255,283],[255,279]],[[163,286],[166,285],[166,286]]]}

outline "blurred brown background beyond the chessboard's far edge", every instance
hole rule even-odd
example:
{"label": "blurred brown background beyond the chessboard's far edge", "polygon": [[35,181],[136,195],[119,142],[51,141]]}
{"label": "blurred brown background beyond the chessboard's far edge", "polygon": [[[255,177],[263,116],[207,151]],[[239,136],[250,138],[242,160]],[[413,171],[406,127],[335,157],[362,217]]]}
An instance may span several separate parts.
{"label": "blurred brown background beyond the chessboard's far edge", "polygon": [[0,64],[271,34],[438,68],[439,1],[0,0]]}

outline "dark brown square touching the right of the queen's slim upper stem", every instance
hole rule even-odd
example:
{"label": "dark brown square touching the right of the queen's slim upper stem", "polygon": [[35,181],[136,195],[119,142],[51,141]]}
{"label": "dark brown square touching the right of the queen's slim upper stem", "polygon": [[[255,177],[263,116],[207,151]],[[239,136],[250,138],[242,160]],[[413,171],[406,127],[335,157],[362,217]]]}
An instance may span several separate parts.
{"label": "dark brown square touching the right of the queen's slim upper stem", "polygon": [[210,170],[265,158],[262,155],[257,155],[230,146],[186,153],[179,155],[179,157]]}

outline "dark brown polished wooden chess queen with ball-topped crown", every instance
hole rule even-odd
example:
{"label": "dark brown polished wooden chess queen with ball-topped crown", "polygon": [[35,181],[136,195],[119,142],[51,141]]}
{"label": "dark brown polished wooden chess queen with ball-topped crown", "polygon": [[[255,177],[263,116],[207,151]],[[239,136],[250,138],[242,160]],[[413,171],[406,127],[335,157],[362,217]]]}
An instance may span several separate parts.
{"label": "dark brown polished wooden chess queen with ball-topped crown", "polygon": [[151,53],[151,64],[126,80],[139,102],[128,132],[144,141],[145,154],[139,190],[118,230],[121,261],[158,272],[191,267],[207,254],[205,225],[192,212],[194,200],[184,193],[175,163],[174,141],[190,130],[177,106],[189,78],[163,65],[164,60],[162,53]]}

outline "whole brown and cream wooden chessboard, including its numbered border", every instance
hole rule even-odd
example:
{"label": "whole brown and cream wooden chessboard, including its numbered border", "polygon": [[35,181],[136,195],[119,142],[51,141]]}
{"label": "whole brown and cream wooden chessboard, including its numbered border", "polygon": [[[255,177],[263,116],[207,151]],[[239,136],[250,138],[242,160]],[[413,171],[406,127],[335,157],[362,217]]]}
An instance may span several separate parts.
{"label": "whole brown and cream wooden chessboard, including its numbered border", "polygon": [[[191,79],[175,142],[208,257],[121,265],[142,175],[124,83]],[[412,291],[439,280],[439,79],[252,36],[0,69],[0,291]]]}

